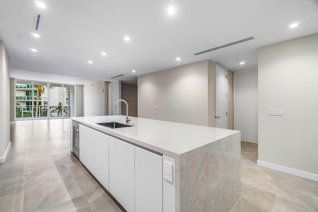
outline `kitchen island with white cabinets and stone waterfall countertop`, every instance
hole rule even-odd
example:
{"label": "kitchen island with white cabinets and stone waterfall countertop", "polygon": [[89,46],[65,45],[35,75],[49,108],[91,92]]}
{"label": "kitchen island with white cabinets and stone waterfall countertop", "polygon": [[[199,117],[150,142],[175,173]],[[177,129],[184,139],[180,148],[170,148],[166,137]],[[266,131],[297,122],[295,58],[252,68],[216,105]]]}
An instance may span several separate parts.
{"label": "kitchen island with white cabinets and stone waterfall countertop", "polygon": [[[80,161],[127,211],[229,212],[233,208],[241,190],[239,131],[130,118],[134,126],[116,129],[97,123],[126,123],[126,116],[71,119],[80,124]],[[106,162],[99,165],[101,161]],[[98,177],[100,169],[107,169],[105,177]],[[123,183],[127,185],[121,188]]]}

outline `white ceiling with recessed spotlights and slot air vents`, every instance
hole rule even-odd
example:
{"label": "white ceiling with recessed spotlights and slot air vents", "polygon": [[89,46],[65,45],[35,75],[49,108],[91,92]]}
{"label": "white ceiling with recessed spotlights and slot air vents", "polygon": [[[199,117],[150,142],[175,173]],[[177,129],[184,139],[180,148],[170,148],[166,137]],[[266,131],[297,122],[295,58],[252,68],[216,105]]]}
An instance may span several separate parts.
{"label": "white ceiling with recessed spotlights and slot air vents", "polygon": [[[257,68],[258,47],[318,33],[318,0],[40,1],[45,8],[34,0],[0,0],[0,40],[11,69],[127,83],[203,60],[231,71],[251,70]],[[168,14],[169,6],[174,14]],[[294,22],[301,24],[290,28]],[[110,78],[119,74],[124,75]]]}

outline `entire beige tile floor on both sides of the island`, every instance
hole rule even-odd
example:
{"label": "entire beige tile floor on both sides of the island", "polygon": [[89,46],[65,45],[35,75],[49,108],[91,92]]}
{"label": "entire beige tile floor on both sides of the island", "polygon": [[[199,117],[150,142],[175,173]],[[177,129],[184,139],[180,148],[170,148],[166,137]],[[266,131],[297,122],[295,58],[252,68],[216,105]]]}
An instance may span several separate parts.
{"label": "entire beige tile floor on both sides of the island", "polygon": [[[0,212],[120,212],[70,154],[70,120],[10,123],[0,164]],[[318,212],[318,182],[256,165],[257,144],[241,142],[242,196],[232,212]]]}

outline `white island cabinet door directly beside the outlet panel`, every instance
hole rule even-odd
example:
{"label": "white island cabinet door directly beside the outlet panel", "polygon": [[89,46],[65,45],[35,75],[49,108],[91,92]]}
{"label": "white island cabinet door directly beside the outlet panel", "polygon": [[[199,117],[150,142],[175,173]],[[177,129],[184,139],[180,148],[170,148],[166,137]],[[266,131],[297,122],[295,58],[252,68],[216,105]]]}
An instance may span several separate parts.
{"label": "white island cabinet door directly beside the outlet panel", "polygon": [[135,147],[136,212],[162,212],[162,156]]}

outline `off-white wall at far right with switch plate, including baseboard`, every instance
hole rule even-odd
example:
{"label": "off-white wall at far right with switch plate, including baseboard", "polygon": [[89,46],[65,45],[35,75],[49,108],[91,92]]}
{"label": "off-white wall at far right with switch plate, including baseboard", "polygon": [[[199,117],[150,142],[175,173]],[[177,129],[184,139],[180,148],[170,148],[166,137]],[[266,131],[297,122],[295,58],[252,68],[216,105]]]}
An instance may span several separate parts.
{"label": "off-white wall at far right with switch plate, including baseboard", "polygon": [[258,49],[258,165],[318,181],[317,80],[318,34]]}

